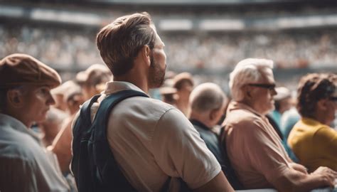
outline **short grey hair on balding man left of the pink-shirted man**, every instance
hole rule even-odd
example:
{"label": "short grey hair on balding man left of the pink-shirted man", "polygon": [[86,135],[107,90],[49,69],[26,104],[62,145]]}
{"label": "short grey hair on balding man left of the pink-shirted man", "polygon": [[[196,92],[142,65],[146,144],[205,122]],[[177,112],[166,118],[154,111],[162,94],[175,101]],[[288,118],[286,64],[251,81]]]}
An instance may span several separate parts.
{"label": "short grey hair on balding man left of the pink-shirted man", "polygon": [[208,110],[220,109],[226,100],[225,93],[213,82],[198,85],[191,92],[190,104],[194,112],[203,113]]}

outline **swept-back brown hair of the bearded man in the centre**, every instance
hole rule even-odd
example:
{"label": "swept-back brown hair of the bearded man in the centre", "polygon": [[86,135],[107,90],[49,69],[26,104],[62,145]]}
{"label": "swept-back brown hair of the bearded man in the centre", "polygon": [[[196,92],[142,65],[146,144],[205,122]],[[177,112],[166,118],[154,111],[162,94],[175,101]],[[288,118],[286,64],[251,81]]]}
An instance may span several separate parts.
{"label": "swept-back brown hair of the bearded man in the centre", "polygon": [[154,48],[156,32],[146,12],[117,18],[97,33],[97,48],[114,76],[133,68],[134,58],[144,46]]}

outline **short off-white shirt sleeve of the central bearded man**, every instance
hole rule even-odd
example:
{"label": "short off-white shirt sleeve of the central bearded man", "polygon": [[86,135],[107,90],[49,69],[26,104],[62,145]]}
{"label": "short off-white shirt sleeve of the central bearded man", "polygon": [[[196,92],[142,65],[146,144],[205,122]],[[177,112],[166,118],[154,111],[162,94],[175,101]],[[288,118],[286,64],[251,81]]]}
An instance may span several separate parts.
{"label": "short off-white shirt sleeve of the central bearded man", "polygon": [[152,139],[154,159],[172,177],[198,188],[217,176],[221,167],[191,122],[176,109],[159,119]]}

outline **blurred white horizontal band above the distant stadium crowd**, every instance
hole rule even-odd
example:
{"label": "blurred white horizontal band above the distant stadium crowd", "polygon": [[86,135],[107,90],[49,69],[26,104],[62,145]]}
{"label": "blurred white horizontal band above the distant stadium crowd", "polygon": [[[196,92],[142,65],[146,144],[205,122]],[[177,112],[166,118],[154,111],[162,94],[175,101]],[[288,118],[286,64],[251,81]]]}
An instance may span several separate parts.
{"label": "blurred white horizontal band above the distant stadium crowd", "polygon": [[[131,0],[130,0],[131,1]],[[100,28],[112,21],[116,16],[107,16],[93,12],[74,11],[71,9],[46,9],[26,6],[0,6],[0,18],[28,20],[31,22],[44,21]],[[296,28],[337,27],[337,13],[323,14],[286,14],[282,16],[198,16],[186,18],[183,15],[170,18],[157,16],[154,18],[159,31],[274,31]]]}

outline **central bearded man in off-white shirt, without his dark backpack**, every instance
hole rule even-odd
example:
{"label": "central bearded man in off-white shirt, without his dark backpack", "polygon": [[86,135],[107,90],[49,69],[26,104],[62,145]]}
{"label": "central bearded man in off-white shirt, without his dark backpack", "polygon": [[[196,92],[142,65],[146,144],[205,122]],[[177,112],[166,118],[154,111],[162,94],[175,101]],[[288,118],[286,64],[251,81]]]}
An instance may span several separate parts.
{"label": "central bearded man in off-white shirt, without his dark backpack", "polygon": [[[120,90],[147,94],[149,88],[159,87],[163,82],[164,43],[148,14],[117,18],[97,34],[97,46],[114,75],[114,82],[107,83],[104,94],[90,108],[93,115],[106,95]],[[119,102],[108,117],[107,147],[137,191],[160,191],[170,177],[171,190],[177,181],[173,178],[182,178],[195,190],[232,191],[196,129],[171,105],[148,97],[130,97]],[[75,137],[77,134],[74,132],[74,156],[80,152],[79,143],[75,142],[80,141]],[[95,181],[95,176],[89,176],[94,173],[77,174],[84,171],[78,170],[83,160],[77,160],[72,162],[77,181],[79,177]],[[79,188],[85,184],[77,183]],[[109,187],[109,180],[102,185]]]}

